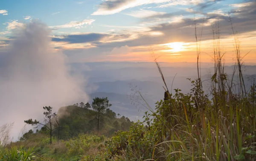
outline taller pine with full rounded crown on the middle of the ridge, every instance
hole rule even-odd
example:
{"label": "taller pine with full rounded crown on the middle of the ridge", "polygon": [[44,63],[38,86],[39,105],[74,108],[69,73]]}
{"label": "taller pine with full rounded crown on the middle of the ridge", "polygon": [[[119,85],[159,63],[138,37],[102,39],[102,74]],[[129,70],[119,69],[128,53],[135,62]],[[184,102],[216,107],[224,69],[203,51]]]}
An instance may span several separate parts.
{"label": "taller pine with full rounded crown on the middle of the ridge", "polygon": [[96,111],[96,119],[98,121],[98,132],[99,132],[99,120],[102,115],[106,113],[106,109],[108,107],[112,106],[111,103],[109,103],[108,98],[93,98],[92,108],[94,111]]}

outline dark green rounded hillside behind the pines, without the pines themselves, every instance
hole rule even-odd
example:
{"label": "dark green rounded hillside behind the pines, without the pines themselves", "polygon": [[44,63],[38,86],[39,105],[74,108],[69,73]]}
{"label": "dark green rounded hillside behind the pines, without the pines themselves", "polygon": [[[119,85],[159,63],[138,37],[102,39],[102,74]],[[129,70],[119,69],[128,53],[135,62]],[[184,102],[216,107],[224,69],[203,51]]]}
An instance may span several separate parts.
{"label": "dark green rounded hillside behind the pines, without the pines themselves", "polygon": [[[79,133],[97,132],[96,112],[91,109],[65,106],[58,110],[58,115],[60,115],[61,139],[72,138]],[[128,130],[131,125],[128,118],[122,115],[118,118],[112,110],[102,116],[100,123],[99,132],[104,135],[112,135],[117,130]],[[58,135],[58,131],[55,130],[54,134]]]}

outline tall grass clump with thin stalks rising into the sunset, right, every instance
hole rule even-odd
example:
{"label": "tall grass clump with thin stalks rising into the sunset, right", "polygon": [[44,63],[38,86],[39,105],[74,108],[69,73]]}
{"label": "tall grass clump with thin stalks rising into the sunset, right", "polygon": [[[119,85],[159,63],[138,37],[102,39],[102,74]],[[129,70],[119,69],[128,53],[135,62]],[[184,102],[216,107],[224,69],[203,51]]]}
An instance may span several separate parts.
{"label": "tall grass clump with thin stalks rising into the sunset, right", "polygon": [[[212,98],[209,98],[202,89],[198,45],[198,79],[191,80],[194,87],[190,94],[184,95],[178,89],[175,89],[175,94],[170,94],[162,69],[155,60],[169,99],[162,102],[156,112],[150,109],[154,119],[163,120],[161,121],[163,141],[155,145],[154,153],[158,152],[151,160],[256,161],[256,149],[253,146],[256,142],[253,88],[255,84],[251,90],[246,91],[242,74],[244,57],[241,57],[239,40],[234,32],[231,18],[230,24],[236,50],[236,63],[231,77],[225,73],[225,52],[221,52],[220,27],[218,23],[212,26],[215,71],[210,80]],[[198,44],[196,26],[195,37]],[[238,69],[238,84],[233,81],[236,77],[236,69]],[[156,122],[152,124],[157,124]]]}

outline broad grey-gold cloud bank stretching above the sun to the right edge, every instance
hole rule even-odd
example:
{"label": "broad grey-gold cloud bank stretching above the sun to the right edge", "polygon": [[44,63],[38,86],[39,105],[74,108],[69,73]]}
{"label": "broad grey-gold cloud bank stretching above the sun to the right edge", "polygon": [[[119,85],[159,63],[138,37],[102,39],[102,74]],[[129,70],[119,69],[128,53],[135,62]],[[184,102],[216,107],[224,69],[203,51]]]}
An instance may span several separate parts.
{"label": "broad grey-gold cloud bank stretching above the sun to the right edge", "polygon": [[[216,2],[216,1],[214,1]],[[198,6],[201,7],[201,6]],[[184,11],[184,9],[182,9]],[[188,11],[196,11],[196,9],[190,9]],[[212,40],[212,24],[219,23],[221,26],[221,37],[230,36],[230,23],[229,17],[221,9],[213,11],[204,11],[201,15],[196,17],[196,23],[199,28],[204,24],[203,37],[201,40]],[[255,31],[256,20],[256,3],[241,7],[239,11],[233,9],[230,11],[233,26],[236,28],[235,31],[240,33]],[[236,13],[239,17],[233,16]],[[191,16],[190,12],[185,12],[183,16],[180,15],[180,11],[176,11],[168,14],[155,15],[151,17],[145,17],[140,21],[141,29],[136,30],[135,26],[105,26],[113,27],[114,30],[108,32],[104,36],[100,36],[95,39],[88,39],[87,34],[85,36],[66,36],[59,38],[56,41],[64,41],[67,43],[81,43],[89,42],[92,46],[96,46],[96,49],[87,49],[89,52],[94,50],[101,50],[102,52],[111,51],[114,47],[120,48],[122,46],[137,47],[154,46],[157,44],[165,44],[171,42],[194,42],[194,17]],[[141,16],[143,17],[143,16]],[[241,18],[242,17],[242,18]],[[142,27],[145,22],[151,22],[149,20],[157,21],[157,24],[151,25],[150,27]],[[159,20],[166,20],[161,23]],[[204,23],[203,23],[204,22]],[[96,33],[94,33],[96,34]],[[99,33],[102,35],[102,33]],[[97,34],[96,34],[97,35]],[[72,37],[72,38],[71,38]],[[76,40],[78,38],[78,40]],[[81,37],[81,39],[80,39]],[[83,40],[84,39],[84,40]],[[105,50],[105,51],[104,51]]]}

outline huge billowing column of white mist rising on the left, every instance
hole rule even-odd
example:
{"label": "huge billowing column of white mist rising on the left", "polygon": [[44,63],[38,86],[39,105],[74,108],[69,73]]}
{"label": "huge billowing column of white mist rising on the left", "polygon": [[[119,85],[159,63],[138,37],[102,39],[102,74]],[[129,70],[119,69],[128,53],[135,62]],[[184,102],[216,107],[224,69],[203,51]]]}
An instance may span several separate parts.
{"label": "huge billowing column of white mist rising on the left", "polygon": [[0,54],[0,122],[15,121],[15,139],[24,120],[43,121],[43,106],[52,106],[55,112],[61,106],[88,101],[84,79],[74,74],[62,52],[54,52],[49,34],[47,26],[31,22],[16,32]]}

